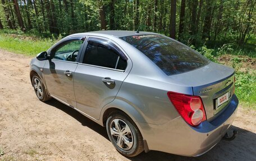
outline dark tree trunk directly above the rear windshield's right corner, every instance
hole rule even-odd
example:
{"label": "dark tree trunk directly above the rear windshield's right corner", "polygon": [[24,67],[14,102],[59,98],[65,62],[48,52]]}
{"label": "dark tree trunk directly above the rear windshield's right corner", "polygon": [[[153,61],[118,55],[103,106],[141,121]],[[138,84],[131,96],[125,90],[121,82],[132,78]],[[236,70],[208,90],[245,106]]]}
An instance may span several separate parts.
{"label": "dark tree trunk directly above the rear windshield's right corner", "polygon": [[203,34],[202,39],[205,40],[206,38],[210,39],[210,29],[211,29],[211,14],[212,14],[212,1],[206,1],[206,13],[204,19],[204,26],[203,26]]}

